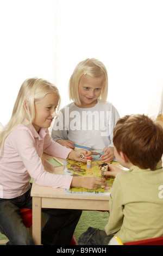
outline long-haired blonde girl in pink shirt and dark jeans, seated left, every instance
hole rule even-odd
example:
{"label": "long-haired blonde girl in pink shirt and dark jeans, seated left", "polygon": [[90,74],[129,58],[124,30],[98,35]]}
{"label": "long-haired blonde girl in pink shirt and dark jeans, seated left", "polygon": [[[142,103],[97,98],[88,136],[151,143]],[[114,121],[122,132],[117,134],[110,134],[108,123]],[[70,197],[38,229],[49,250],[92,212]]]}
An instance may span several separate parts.
{"label": "long-haired blonde girl in pink shirt and dark jeans, seated left", "polygon": [[[9,245],[34,245],[32,237],[21,221],[20,208],[32,208],[30,179],[36,184],[70,188],[80,186],[96,189],[104,180],[83,178],[46,172],[41,162],[43,152],[82,160],[90,156],[87,150],[74,151],[53,142],[48,127],[60,102],[57,87],[41,78],[29,78],[18,93],[9,123],[0,134],[0,231],[9,239]],[[43,245],[70,245],[74,229],[82,211],[42,209],[47,223],[42,229]]]}

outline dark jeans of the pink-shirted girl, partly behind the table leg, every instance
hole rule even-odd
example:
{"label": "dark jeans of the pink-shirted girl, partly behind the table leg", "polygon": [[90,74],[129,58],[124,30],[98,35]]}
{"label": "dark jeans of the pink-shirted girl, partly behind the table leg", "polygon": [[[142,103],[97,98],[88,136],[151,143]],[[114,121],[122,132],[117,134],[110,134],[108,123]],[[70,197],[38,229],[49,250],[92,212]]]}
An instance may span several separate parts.
{"label": "dark jeans of the pink-shirted girl, partly behind the table leg", "polygon": [[[30,190],[13,199],[0,198],[0,231],[8,237],[8,245],[34,245],[22,222],[20,208],[32,209]],[[47,223],[42,229],[43,245],[70,245],[82,210],[45,209]]]}

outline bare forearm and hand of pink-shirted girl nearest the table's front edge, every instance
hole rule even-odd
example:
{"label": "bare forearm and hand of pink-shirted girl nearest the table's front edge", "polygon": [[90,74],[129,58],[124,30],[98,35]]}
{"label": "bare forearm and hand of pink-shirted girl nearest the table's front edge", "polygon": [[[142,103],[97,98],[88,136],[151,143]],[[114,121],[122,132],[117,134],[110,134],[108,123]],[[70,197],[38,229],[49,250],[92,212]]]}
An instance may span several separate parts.
{"label": "bare forearm and hand of pink-shirted girl nearest the table's front edge", "polygon": [[71,187],[84,187],[88,190],[96,190],[101,186],[106,186],[105,180],[95,176],[73,177],[71,182]]}

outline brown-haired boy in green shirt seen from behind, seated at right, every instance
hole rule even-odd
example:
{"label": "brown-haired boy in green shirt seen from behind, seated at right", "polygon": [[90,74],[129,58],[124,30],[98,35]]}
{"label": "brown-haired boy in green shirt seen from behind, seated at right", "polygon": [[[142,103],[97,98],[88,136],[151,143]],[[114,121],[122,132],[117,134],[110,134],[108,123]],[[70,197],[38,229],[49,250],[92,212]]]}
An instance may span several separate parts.
{"label": "brown-haired boy in green shirt seen from behind, seated at right", "polygon": [[124,171],[109,164],[115,176],[105,230],[89,228],[79,245],[108,245],[116,235],[123,243],[163,235],[163,129],[146,115],[126,115],[114,129],[114,154]]}

